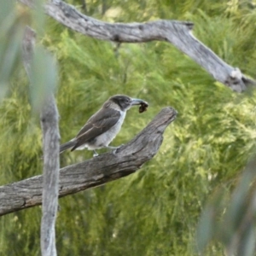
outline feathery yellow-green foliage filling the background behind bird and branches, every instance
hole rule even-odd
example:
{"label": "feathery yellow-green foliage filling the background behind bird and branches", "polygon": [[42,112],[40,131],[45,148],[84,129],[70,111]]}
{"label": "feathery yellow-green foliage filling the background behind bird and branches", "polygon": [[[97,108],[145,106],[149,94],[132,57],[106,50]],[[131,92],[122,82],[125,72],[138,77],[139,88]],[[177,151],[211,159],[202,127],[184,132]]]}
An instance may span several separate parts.
{"label": "feathery yellow-green foliage filling the background behind bird and branches", "polygon": [[[194,33],[233,67],[255,76],[256,9],[251,1],[87,1],[101,20],[191,20]],[[80,8],[79,1],[70,1]],[[105,3],[105,2],[104,2]],[[82,10],[83,11],[83,10]],[[230,192],[255,151],[255,96],[237,95],[214,81],[170,44],[116,44],[86,38],[48,19],[40,43],[59,64],[56,93],[61,143],[76,135],[114,94],[148,101],[133,108],[113,145],[128,142],[161,108],[178,111],[159,153],[129,176],[60,200],[59,255],[196,255],[195,230],[216,190]],[[42,172],[41,131],[32,115],[26,73],[15,73],[0,105],[1,185]],[[103,152],[103,151],[102,151]],[[61,166],[91,152],[61,154]],[[1,255],[40,254],[41,209],[0,218]],[[223,255],[218,243],[205,255]]]}

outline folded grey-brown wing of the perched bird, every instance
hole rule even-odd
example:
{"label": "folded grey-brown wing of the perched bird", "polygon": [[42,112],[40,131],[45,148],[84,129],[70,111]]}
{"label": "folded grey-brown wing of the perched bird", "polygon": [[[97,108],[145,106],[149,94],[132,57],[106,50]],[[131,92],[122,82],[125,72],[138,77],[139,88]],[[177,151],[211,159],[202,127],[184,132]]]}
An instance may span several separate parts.
{"label": "folded grey-brown wing of the perched bird", "polygon": [[119,117],[119,111],[113,108],[101,109],[95,113],[79,131],[79,134],[76,137],[77,143],[72,148],[72,151],[75,148],[79,148],[79,146],[83,145],[84,143],[92,141],[105,131],[108,131],[118,122]]}

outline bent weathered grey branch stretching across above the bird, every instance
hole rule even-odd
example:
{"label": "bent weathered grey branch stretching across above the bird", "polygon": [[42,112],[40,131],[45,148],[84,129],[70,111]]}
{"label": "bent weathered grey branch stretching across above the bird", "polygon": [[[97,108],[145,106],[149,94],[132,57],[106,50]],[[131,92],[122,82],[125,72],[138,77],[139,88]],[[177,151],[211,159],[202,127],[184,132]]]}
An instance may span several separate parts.
{"label": "bent weathered grey branch stretching across above the bird", "polygon": [[[19,0],[30,7],[33,0]],[[237,67],[231,67],[211,49],[192,35],[193,23],[177,20],[156,20],[146,23],[108,23],[81,14],[72,5],[61,0],[52,0],[45,4],[45,13],[61,24],[92,38],[119,43],[142,43],[153,40],[167,41],[186,55],[189,55],[213,78],[241,92],[253,79],[246,78]]]}

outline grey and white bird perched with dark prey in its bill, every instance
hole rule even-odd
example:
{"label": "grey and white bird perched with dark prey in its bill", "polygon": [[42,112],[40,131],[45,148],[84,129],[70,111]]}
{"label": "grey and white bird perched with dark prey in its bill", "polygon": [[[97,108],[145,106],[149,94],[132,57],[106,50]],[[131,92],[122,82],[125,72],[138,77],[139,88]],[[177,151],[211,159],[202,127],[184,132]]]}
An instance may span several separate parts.
{"label": "grey and white bird perched with dark prey in its bill", "polygon": [[102,108],[90,117],[79,134],[71,141],[64,143],[60,147],[60,153],[71,148],[81,150],[87,148],[94,150],[97,148],[117,149],[119,147],[108,146],[119,133],[125,119],[126,111],[134,105],[146,103],[140,99],[133,99],[125,95],[112,96],[105,102]]}

